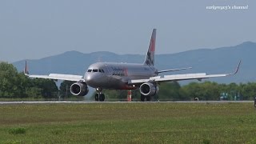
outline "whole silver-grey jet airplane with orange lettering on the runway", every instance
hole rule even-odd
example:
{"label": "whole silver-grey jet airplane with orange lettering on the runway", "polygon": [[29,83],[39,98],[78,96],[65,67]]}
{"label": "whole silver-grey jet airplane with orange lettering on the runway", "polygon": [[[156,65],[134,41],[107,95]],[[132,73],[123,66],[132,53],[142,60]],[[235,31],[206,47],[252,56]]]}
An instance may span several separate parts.
{"label": "whole silver-grey jet airplane with orange lettering on the runway", "polygon": [[134,90],[138,89],[141,93],[141,101],[150,101],[150,98],[158,93],[158,83],[181,81],[189,79],[202,80],[203,78],[226,77],[238,72],[241,61],[238,67],[231,74],[173,74],[158,76],[160,73],[186,70],[188,68],[160,70],[154,67],[154,51],[156,42],[156,29],[153,30],[150,46],[146,53],[146,58],[143,63],[117,63],[117,62],[97,62],[89,66],[88,70],[82,75],[73,74],[49,74],[49,75],[31,75],[28,74],[27,67],[24,73],[30,78],[50,78],[54,80],[74,81],[70,86],[71,94],[84,96],[88,93],[88,86],[97,90],[95,101],[104,101],[105,95],[102,94],[102,89],[110,90]]}

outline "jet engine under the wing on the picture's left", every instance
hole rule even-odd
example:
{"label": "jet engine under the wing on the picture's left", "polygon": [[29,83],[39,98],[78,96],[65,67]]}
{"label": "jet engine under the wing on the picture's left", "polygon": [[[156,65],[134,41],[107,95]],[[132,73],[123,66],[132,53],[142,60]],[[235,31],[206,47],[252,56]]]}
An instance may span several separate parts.
{"label": "jet engine under the wing on the picture's left", "polygon": [[86,82],[75,82],[70,86],[70,93],[77,96],[85,96],[89,89]]}

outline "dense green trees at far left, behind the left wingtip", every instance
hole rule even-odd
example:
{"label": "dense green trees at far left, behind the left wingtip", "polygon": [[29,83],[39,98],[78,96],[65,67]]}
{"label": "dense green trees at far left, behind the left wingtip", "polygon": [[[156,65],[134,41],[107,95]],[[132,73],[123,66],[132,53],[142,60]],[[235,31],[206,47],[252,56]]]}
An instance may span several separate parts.
{"label": "dense green trees at far left, behind the left wingtip", "polygon": [[42,78],[27,78],[7,62],[0,62],[0,98],[56,98],[55,82]]}

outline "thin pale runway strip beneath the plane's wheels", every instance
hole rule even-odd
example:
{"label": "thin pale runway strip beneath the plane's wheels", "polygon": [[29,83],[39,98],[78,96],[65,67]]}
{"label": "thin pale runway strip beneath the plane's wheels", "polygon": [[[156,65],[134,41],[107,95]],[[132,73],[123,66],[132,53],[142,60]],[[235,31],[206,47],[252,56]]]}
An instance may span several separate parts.
{"label": "thin pale runway strip beneath the plane's wheels", "polygon": [[[158,101],[160,103],[248,103],[248,102],[254,102],[254,101]],[[157,103],[158,103],[157,102]],[[16,101],[16,102],[0,102],[0,105],[6,105],[6,104],[90,104],[90,103],[149,103],[149,102],[94,102],[94,101]],[[152,103],[152,102],[150,102]]]}

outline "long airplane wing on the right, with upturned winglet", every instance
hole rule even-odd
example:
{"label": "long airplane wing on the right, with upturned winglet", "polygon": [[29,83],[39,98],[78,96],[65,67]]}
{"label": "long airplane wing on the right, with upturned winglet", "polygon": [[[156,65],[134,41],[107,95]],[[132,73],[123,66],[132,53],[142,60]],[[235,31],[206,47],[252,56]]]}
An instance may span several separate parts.
{"label": "long airplane wing on the right, with upturned winglet", "polygon": [[234,75],[238,73],[239,66],[241,61],[238,63],[238,66],[234,73],[230,74],[206,74],[206,73],[197,73],[197,74],[173,74],[173,75],[164,75],[163,77],[151,77],[149,79],[134,79],[130,80],[129,84],[138,84],[144,82],[170,82],[170,81],[182,81],[182,80],[190,80],[190,79],[198,79],[201,81],[204,78],[217,78],[217,77],[226,77],[230,75]]}

